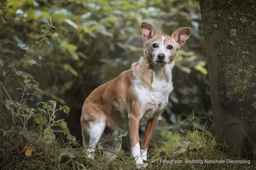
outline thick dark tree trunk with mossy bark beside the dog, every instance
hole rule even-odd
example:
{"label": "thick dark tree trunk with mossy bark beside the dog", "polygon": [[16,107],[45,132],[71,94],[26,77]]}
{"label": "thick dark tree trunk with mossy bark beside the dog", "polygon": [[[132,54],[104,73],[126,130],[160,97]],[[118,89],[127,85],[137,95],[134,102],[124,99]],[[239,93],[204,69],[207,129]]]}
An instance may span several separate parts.
{"label": "thick dark tree trunk with mossy bark beside the dog", "polygon": [[200,0],[214,135],[240,154],[256,142],[256,1]]}

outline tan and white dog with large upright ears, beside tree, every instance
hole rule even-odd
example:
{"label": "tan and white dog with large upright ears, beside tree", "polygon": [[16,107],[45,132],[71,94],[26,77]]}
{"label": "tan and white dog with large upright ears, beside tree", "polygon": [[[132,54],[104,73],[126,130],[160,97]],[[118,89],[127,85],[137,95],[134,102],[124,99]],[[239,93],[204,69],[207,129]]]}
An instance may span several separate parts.
{"label": "tan and white dog with large upright ears, beside tree", "polygon": [[[96,88],[84,102],[81,116],[83,145],[90,158],[98,143],[103,157],[113,158],[121,148],[120,138],[130,130],[132,157],[137,167],[146,167],[147,146],[173,90],[172,69],[177,50],[191,29],[180,28],[172,36],[158,35],[156,28],[141,22],[146,43],[144,56],[131,69]],[[139,125],[146,123],[140,146]],[[108,152],[110,151],[110,152]]]}

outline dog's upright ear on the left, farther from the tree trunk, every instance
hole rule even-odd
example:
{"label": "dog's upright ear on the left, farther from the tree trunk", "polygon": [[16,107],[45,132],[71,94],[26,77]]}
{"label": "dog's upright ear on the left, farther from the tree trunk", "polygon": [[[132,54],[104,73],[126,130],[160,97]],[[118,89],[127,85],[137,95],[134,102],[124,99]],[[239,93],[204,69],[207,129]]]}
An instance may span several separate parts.
{"label": "dog's upright ear on the left, farther from the tree trunk", "polygon": [[156,28],[149,22],[142,21],[140,23],[140,28],[142,32],[142,38],[145,42],[157,34]]}

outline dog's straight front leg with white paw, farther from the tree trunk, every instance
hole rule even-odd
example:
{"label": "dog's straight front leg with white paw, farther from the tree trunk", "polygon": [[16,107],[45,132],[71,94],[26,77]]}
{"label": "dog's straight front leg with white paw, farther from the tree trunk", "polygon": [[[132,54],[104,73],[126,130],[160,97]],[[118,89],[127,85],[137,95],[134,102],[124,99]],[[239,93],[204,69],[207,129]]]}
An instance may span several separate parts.
{"label": "dog's straight front leg with white paw, farther from the tree trunk", "polygon": [[129,116],[129,129],[130,129],[130,138],[131,138],[131,154],[134,158],[137,168],[146,167],[143,163],[140,153],[140,141],[139,141],[139,115],[131,114]]}

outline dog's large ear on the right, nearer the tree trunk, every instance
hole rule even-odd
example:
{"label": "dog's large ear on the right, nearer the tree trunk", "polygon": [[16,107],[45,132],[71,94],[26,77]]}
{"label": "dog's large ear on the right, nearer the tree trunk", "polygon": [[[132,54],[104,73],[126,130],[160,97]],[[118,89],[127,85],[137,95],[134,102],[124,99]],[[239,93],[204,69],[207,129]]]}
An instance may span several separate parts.
{"label": "dog's large ear on the right, nearer the tree trunk", "polygon": [[180,49],[181,46],[184,46],[185,41],[190,36],[191,29],[189,27],[183,27],[175,31],[172,36],[174,37],[175,41],[178,44],[178,48]]}

